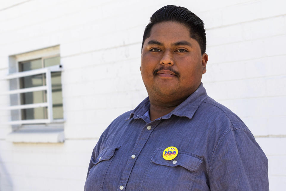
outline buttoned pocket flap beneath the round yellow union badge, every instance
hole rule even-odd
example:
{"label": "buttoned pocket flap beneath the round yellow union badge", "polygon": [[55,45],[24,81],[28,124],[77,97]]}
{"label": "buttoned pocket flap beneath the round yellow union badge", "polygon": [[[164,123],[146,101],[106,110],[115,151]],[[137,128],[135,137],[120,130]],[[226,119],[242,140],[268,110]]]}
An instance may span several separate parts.
{"label": "buttoned pocket flap beneath the round yellow union badge", "polygon": [[[170,160],[167,161],[163,158],[163,152],[165,149],[163,148],[157,148],[153,155],[151,156],[151,160],[155,164],[161,164],[169,167],[176,167],[181,166],[189,171],[196,171],[198,170],[198,167],[203,162],[203,158],[198,157],[197,155],[194,155],[192,153],[186,153],[183,151],[178,151],[178,155]],[[176,160],[177,163],[173,164],[173,161]]]}

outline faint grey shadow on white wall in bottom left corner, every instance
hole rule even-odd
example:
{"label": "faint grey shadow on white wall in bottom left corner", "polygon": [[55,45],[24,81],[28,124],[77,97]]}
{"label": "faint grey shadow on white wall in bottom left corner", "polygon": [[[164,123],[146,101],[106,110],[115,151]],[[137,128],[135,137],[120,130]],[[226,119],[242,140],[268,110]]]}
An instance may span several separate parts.
{"label": "faint grey shadow on white wall in bottom left corner", "polygon": [[[0,161],[1,156],[0,156]],[[4,163],[0,162],[0,191],[13,191],[13,182]]]}

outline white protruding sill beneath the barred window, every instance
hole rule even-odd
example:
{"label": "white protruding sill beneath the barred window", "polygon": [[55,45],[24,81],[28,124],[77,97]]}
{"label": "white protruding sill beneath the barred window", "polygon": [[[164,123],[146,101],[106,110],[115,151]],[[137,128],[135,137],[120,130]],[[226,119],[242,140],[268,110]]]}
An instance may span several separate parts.
{"label": "white protruding sill beneath the barred window", "polygon": [[65,135],[63,127],[34,125],[9,133],[6,140],[14,143],[63,143]]}

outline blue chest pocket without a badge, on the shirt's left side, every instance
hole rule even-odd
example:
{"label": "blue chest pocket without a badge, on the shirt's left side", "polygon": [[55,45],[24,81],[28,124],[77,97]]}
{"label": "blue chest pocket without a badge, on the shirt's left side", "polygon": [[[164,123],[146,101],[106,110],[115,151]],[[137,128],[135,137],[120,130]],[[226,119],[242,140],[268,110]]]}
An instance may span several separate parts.
{"label": "blue chest pocket without a badge, on the shirt's left side", "polygon": [[86,179],[85,191],[102,190],[103,181],[109,165],[120,146],[111,146],[103,149],[97,158],[91,157],[91,162],[94,166],[91,168]]}

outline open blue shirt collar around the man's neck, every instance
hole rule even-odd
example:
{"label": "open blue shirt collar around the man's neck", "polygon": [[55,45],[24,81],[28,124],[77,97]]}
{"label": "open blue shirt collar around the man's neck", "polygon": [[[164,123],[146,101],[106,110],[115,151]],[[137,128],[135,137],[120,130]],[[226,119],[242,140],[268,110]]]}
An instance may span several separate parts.
{"label": "open blue shirt collar around the man's neck", "polygon": [[[170,113],[162,116],[162,119],[170,118],[172,115],[177,115],[180,117],[187,117],[191,119],[195,112],[197,111],[200,104],[206,99],[208,95],[206,94],[206,89],[203,87],[203,83],[200,83],[198,89],[192,93],[185,101],[183,101],[180,105],[178,105],[174,110]],[[150,110],[150,101],[149,97],[145,98],[131,113],[129,118],[125,120],[129,120],[130,118],[138,119],[142,117],[148,110]]]}

